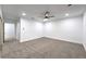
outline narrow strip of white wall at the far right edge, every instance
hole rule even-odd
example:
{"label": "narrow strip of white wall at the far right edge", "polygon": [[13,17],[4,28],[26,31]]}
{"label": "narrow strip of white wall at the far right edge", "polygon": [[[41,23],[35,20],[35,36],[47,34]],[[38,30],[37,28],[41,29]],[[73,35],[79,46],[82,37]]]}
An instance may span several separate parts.
{"label": "narrow strip of white wall at the far right edge", "polygon": [[84,23],[83,23],[83,31],[84,31],[84,34],[83,34],[83,44],[84,44],[84,48],[86,50],[86,12],[84,13],[83,21],[84,21]]}

